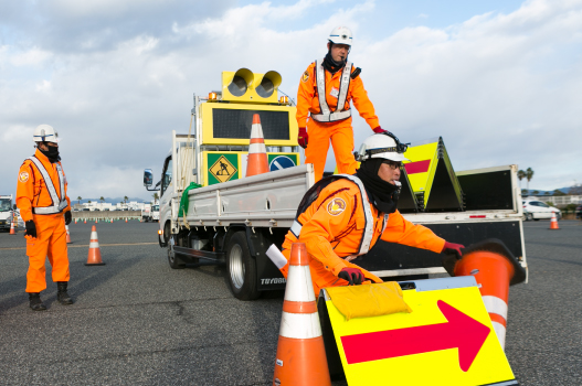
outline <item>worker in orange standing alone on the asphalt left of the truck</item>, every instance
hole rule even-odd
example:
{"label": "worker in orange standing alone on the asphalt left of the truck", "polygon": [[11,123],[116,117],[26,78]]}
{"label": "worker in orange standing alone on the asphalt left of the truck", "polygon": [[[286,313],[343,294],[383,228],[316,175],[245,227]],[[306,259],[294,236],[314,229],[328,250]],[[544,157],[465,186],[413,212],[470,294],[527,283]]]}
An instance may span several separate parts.
{"label": "worker in orange standing alone on the asphalt left of the truck", "polygon": [[17,206],[27,226],[27,292],[30,308],[46,310],[40,292],[46,289],[44,261],[49,257],[56,298],[61,304],[73,304],[67,293],[68,257],[65,224],[71,223],[71,200],[66,195],[66,178],[59,157],[57,132],[49,125],[34,130],[34,156],[20,167]]}

